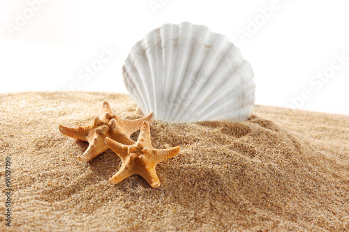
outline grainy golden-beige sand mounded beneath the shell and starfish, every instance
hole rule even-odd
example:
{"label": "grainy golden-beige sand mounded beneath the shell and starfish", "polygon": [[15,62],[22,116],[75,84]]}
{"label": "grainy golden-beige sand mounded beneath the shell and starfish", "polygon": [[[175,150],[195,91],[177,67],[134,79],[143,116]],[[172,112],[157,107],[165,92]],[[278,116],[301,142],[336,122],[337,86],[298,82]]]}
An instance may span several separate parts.
{"label": "grainy golden-beige sand mounded beneath the shell and starfish", "polygon": [[78,162],[87,143],[59,132],[91,123],[103,100],[140,117],[123,94],[0,95],[2,231],[349,231],[349,116],[256,105],[246,122],[154,121],[153,146],[181,153],[153,189],[140,176],[110,185],[119,157]]}

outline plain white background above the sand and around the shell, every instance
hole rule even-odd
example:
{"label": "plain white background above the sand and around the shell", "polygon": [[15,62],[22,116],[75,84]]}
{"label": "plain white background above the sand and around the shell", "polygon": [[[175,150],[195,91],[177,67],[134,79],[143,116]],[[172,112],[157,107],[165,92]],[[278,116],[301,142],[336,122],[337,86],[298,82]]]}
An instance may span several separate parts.
{"label": "plain white background above the sand and around the shell", "polygon": [[[188,21],[241,49],[255,73],[256,104],[349,114],[347,2],[0,0],[0,93],[127,93],[121,68],[135,42]],[[88,74],[105,49],[117,52]]]}

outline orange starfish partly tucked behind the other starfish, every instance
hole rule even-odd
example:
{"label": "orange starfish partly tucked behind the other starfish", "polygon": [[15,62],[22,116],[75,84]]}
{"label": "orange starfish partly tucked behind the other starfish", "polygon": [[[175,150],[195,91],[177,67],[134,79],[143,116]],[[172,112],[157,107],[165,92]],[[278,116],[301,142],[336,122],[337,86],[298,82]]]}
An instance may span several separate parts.
{"label": "orange starfish partly tucked behind the other starfish", "polygon": [[112,109],[105,101],[100,117],[94,118],[92,125],[75,128],[59,125],[59,130],[68,137],[89,142],[89,147],[84,154],[77,157],[78,160],[87,162],[108,149],[105,137],[110,137],[122,144],[135,144],[135,141],[130,138],[131,134],[140,130],[142,123],[151,121],[152,117],[153,113],[135,120],[121,119],[112,114]]}

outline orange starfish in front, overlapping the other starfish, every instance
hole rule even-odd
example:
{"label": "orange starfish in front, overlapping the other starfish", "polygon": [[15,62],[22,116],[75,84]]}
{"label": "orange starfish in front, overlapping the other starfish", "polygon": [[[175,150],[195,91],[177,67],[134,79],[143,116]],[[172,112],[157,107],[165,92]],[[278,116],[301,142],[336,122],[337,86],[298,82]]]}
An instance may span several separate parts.
{"label": "orange starfish in front, overlapping the other starfish", "polygon": [[135,144],[127,146],[110,138],[105,138],[105,144],[120,157],[121,169],[109,179],[112,184],[120,183],[122,180],[138,175],[142,176],[151,187],[159,187],[160,181],[156,175],[156,164],[167,160],[179,153],[180,146],[168,149],[155,149],[151,146],[150,127],[147,121],[140,128],[140,136]]}

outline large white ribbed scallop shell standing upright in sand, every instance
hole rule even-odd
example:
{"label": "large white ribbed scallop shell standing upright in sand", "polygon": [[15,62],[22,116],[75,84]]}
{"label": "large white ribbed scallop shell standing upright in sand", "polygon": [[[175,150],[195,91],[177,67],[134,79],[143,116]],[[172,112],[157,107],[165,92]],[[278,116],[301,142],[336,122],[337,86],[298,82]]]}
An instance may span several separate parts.
{"label": "large white ribbed scallop shell standing upright in sand", "polygon": [[182,22],[131,49],[124,84],[142,114],[163,121],[246,121],[255,102],[251,65],[225,36]]}

